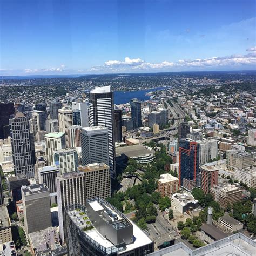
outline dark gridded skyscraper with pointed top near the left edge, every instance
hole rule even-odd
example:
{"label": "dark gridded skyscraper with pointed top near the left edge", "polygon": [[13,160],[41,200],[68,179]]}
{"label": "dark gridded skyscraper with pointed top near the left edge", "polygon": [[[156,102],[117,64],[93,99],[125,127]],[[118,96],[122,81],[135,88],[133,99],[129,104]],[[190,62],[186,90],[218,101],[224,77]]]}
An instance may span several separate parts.
{"label": "dark gridded skyscraper with pointed top near the left edge", "polygon": [[25,174],[33,178],[35,159],[35,144],[33,134],[29,131],[28,118],[23,113],[16,112],[9,119],[11,133],[12,158],[15,176]]}

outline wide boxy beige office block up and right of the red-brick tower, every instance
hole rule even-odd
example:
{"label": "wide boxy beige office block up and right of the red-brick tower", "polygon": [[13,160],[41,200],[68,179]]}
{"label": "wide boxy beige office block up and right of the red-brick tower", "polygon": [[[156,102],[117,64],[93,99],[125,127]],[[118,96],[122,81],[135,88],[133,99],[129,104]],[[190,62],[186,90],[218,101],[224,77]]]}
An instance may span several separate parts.
{"label": "wide boxy beige office block up and right of the red-brick tower", "polygon": [[249,169],[252,165],[253,154],[241,150],[226,151],[226,170]]}

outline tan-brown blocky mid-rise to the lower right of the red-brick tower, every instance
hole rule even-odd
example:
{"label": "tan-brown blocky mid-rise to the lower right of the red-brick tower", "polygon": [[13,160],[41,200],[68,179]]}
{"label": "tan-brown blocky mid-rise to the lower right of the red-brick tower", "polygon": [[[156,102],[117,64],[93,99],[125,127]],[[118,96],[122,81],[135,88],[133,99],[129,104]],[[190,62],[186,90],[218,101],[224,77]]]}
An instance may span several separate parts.
{"label": "tan-brown blocky mid-rise to the lower right of the red-brick tower", "polygon": [[233,203],[242,200],[242,191],[240,188],[229,185],[222,188],[219,192],[219,204],[221,208],[227,208],[228,203],[230,203],[231,207]]}

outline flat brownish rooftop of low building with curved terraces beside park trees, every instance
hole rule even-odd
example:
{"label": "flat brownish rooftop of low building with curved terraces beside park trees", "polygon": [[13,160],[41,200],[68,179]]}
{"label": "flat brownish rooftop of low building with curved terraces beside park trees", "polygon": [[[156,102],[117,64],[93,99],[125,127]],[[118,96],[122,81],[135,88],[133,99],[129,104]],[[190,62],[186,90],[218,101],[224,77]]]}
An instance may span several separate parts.
{"label": "flat brownish rooftop of low building with curved terraces beside park trees", "polygon": [[154,154],[154,151],[146,149],[143,145],[131,145],[116,148],[116,155],[125,154],[127,157],[144,156],[145,154]]}

